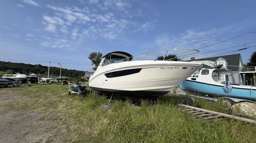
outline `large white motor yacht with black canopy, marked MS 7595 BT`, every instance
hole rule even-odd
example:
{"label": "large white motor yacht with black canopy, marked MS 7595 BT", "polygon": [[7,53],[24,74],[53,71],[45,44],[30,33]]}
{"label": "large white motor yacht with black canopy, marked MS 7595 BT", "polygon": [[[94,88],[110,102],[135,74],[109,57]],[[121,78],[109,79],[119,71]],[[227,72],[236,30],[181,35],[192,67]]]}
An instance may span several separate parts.
{"label": "large white motor yacht with black canopy, marked MS 7595 BT", "polygon": [[154,98],[169,93],[202,66],[193,62],[146,60],[150,57],[148,54],[145,53],[144,60],[136,61],[129,53],[108,53],[90,77],[90,88],[105,93]]}

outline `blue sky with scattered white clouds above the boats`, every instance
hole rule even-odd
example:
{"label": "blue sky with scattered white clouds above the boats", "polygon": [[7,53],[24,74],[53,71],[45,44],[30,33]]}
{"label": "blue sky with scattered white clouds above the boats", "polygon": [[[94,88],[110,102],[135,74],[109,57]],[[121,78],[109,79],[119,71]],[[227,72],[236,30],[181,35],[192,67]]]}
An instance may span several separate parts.
{"label": "blue sky with scattered white clouds above the boats", "polygon": [[200,49],[183,60],[241,53],[246,64],[256,51],[255,6],[255,0],[0,0],[0,61],[90,71],[91,52],[176,48]]}

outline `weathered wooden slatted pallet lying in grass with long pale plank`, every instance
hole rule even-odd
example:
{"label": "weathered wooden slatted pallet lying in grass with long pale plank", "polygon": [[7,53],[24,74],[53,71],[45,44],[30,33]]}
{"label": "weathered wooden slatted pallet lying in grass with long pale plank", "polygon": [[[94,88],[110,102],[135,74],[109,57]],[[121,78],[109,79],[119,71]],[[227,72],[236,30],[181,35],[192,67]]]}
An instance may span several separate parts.
{"label": "weathered wooden slatted pallet lying in grass with long pale plank", "polygon": [[195,116],[195,118],[198,118],[201,120],[206,120],[209,122],[221,121],[221,120],[224,120],[224,118],[232,118],[232,119],[236,119],[236,120],[244,121],[244,122],[248,122],[248,123],[256,123],[256,121],[250,120],[247,118],[241,118],[241,117],[237,117],[237,116],[233,116],[233,115],[228,115],[228,114],[224,114],[224,113],[220,113],[220,112],[196,108],[196,107],[183,105],[183,104],[179,104],[179,105],[181,106],[181,108],[178,108],[180,111],[187,112],[187,113]]}

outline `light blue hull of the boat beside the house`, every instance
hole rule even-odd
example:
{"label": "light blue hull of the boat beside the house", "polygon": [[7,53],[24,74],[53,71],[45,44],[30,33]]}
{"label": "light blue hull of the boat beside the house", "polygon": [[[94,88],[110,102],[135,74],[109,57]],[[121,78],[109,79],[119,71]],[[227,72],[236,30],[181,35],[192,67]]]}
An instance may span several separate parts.
{"label": "light blue hull of the boat beside the house", "polygon": [[244,89],[242,86],[239,88],[232,87],[230,93],[225,93],[221,85],[185,80],[180,84],[180,89],[208,95],[217,95],[219,97],[232,97],[256,101],[256,90]]}

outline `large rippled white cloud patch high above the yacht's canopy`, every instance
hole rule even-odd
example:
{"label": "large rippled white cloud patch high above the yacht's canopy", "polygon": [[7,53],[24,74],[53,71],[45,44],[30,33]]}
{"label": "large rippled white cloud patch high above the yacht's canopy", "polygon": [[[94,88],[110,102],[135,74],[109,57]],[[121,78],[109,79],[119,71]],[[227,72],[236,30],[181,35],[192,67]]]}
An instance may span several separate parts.
{"label": "large rippled white cloud patch high above the yacht's canopy", "polygon": [[[80,0],[80,2],[84,1]],[[96,4],[96,8],[99,8],[99,5],[108,8],[117,8],[119,10],[131,7],[131,4],[125,0],[91,0],[86,3],[94,3]],[[89,9],[87,7],[78,8],[76,6],[64,7],[51,5],[47,5],[47,8],[54,12],[52,12],[53,15],[51,16],[45,15],[43,17],[43,23],[46,25],[45,30],[55,33],[61,31],[66,36],[69,35],[73,41],[76,40],[75,42],[79,40],[82,41],[85,37],[89,39],[99,37],[115,39],[119,34],[125,34],[126,30],[129,28],[131,28],[130,31],[139,32],[149,31],[155,26],[155,21],[140,24],[116,17],[116,15],[111,12],[105,11],[104,14],[100,14],[95,8]],[[134,14],[135,13],[136,12],[134,12]],[[141,15],[141,10],[138,13]],[[120,16],[122,16],[122,14],[120,14]],[[132,23],[136,23],[136,25]],[[82,32],[79,33],[78,29]],[[52,46],[55,47],[54,45]]]}

